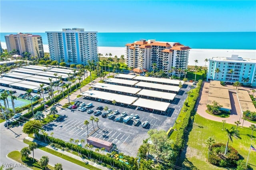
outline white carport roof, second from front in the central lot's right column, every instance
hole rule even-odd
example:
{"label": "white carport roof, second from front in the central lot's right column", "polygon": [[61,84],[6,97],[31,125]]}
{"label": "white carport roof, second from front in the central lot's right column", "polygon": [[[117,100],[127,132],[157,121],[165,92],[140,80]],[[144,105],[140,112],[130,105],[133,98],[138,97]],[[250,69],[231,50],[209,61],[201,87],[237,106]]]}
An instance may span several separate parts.
{"label": "white carport roof, second from front in the central lot's right column", "polygon": [[167,93],[162,91],[154,91],[154,90],[148,90],[148,89],[142,89],[138,95],[143,96],[150,96],[150,97],[156,97],[156,98],[162,98],[162,99],[168,99],[173,100],[176,94],[174,93]]}

